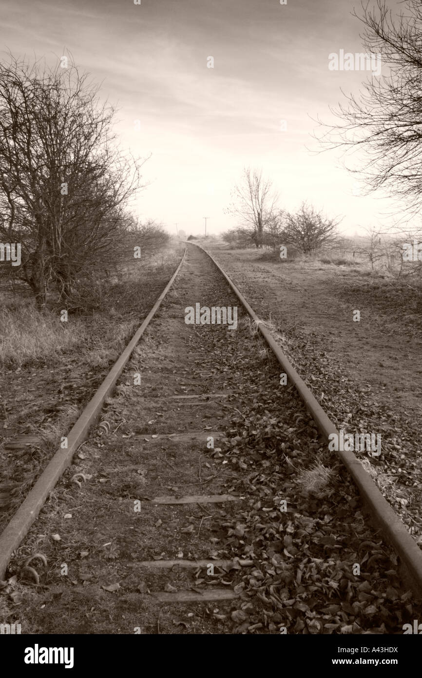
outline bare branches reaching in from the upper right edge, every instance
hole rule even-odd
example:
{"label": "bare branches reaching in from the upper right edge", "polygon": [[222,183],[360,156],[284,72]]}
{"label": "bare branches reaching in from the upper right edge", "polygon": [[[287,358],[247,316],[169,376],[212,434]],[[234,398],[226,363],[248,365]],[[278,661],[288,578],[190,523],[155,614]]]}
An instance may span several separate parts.
{"label": "bare branches reaching in from the upper right edge", "polygon": [[404,199],[417,214],[422,205],[422,3],[406,0],[394,17],[384,0],[375,7],[362,3],[362,35],[366,52],[381,55],[385,69],[380,79],[364,83],[358,97],[331,112],[335,125],[322,125],[317,134],[323,147],[342,146],[345,151],[361,147],[366,152],[362,172],[368,190],[383,187]]}

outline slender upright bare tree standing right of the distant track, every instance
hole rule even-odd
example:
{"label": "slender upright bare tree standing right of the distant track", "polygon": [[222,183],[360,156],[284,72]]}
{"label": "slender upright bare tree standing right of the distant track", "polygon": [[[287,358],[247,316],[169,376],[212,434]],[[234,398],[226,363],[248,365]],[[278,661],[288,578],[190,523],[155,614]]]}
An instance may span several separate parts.
{"label": "slender upright bare tree standing right of the distant track", "polygon": [[263,230],[275,210],[277,197],[272,191],[272,182],[264,179],[262,172],[244,167],[242,180],[234,186],[227,212],[240,217],[240,226],[251,229],[255,247],[261,247],[263,243]]}

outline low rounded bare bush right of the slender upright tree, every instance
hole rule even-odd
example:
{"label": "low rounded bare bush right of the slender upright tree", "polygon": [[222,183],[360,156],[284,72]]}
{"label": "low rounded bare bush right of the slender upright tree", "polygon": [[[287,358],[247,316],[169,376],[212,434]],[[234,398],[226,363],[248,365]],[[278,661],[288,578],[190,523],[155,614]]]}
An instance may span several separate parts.
{"label": "low rounded bare bush right of the slender upright tree", "polygon": [[339,219],[326,218],[307,203],[302,203],[295,214],[287,213],[286,220],[287,243],[295,245],[304,254],[310,254],[337,239]]}

